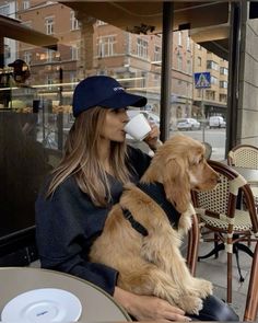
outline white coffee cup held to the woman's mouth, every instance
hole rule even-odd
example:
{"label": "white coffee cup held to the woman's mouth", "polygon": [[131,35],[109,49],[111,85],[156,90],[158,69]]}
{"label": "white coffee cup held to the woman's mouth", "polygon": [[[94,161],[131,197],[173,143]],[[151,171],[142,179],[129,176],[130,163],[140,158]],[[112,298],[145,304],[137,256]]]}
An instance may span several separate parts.
{"label": "white coffee cup held to the woman's mouth", "polygon": [[125,131],[141,141],[151,132],[151,126],[144,115],[139,113],[126,124]]}

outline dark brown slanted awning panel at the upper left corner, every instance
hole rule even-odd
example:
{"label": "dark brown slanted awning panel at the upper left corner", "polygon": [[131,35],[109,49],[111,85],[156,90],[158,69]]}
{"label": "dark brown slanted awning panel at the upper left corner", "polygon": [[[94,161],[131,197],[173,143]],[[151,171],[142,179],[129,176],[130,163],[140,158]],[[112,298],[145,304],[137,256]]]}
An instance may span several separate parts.
{"label": "dark brown slanted awning panel at the upper left corner", "polygon": [[0,15],[0,37],[8,37],[39,47],[57,49],[58,38],[34,31],[19,20]]}

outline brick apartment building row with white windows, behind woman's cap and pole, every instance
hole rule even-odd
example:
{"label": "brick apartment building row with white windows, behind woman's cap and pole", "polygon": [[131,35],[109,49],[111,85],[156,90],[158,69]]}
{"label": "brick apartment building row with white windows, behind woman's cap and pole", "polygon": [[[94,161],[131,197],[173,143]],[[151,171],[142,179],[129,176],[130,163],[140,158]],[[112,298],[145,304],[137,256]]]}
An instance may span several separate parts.
{"label": "brick apartment building row with white windows, behind woman's cap and pole", "polygon": [[[2,1],[5,3],[5,1]],[[57,48],[19,43],[16,58],[31,67],[31,84],[49,101],[71,104],[78,81],[108,74],[129,91],[148,96],[148,108],[160,112],[162,35],[131,34],[56,1],[17,0],[16,19],[59,39]],[[195,44],[188,31],[173,34],[171,122],[195,116],[225,115],[227,62]],[[209,71],[211,88],[195,89],[192,74]],[[61,85],[60,85],[61,84]],[[40,86],[43,85],[43,86]]]}

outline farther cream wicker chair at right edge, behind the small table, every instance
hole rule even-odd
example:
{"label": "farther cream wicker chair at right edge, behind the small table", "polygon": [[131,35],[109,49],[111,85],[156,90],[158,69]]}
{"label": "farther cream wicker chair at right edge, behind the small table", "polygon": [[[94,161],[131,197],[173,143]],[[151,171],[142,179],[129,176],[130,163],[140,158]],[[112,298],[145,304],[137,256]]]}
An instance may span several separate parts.
{"label": "farther cream wicker chair at right edge, behind the small table", "polygon": [[[231,166],[258,170],[258,147],[251,145],[238,145],[227,154],[227,164]],[[251,184],[251,192],[258,209],[258,185]]]}

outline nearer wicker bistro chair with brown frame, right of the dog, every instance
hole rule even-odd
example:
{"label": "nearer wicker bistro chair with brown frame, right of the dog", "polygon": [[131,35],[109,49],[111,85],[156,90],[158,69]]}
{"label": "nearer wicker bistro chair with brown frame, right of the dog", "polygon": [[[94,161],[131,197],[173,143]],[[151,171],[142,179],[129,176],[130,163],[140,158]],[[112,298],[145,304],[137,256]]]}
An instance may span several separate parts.
{"label": "nearer wicker bistro chair with brown frame, right of the dog", "polygon": [[[209,164],[220,174],[221,183],[208,192],[192,192],[192,201],[201,226],[214,232],[215,239],[204,239],[203,241],[214,241],[215,247],[206,256],[216,255],[219,251],[225,250],[227,253],[227,302],[232,302],[232,254],[235,253],[237,268],[242,277],[238,258],[238,250],[254,256],[251,250],[241,242],[258,241],[258,219],[255,208],[254,196],[245,178],[230,166],[216,162],[208,161]],[[242,191],[246,199],[246,210],[236,209],[238,191]]]}

